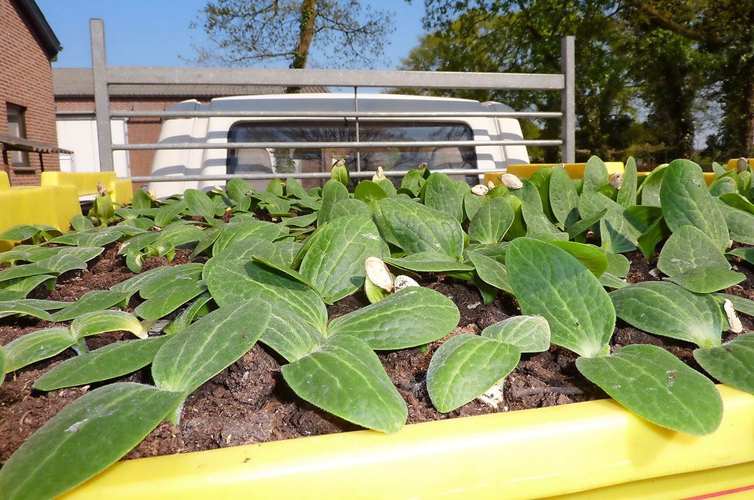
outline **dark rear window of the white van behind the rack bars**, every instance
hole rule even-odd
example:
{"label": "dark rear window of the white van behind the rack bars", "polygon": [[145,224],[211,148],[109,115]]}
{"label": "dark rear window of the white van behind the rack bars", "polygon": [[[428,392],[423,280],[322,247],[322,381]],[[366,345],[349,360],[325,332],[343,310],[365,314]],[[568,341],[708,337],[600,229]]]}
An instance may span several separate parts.
{"label": "dark rear window of the white van behind the rack bars", "polygon": [[[360,141],[418,142],[470,141],[474,133],[466,123],[430,121],[359,120]],[[354,120],[264,121],[235,123],[228,142],[355,142]],[[409,170],[426,162],[430,169],[476,169],[472,147],[366,148],[244,148],[228,151],[228,173],[329,172],[337,160],[351,172]],[[360,164],[360,165],[359,165]],[[358,168],[360,166],[360,168]]]}

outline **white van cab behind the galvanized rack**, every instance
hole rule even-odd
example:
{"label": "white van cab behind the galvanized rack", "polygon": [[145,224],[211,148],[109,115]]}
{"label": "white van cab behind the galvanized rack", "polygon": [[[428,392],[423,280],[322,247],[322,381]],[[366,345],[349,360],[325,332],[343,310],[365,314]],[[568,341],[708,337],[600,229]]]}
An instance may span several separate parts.
{"label": "white van cab behind the galvanized rack", "polygon": [[[461,117],[469,112],[513,111],[498,102],[479,102],[395,94],[360,94],[358,111],[383,113],[441,112],[433,117],[379,118],[358,120],[359,140],[375,142],[418,141],[501,141],[521,140],[518,120],[507,117]],[[306,111],[309,117],[192,117],[164,121],[160,143],[170,142],[355,142],[354,118],[311,117],[314,112],[354,111],[354,96],[346,93],[305,93],[263,96],[237,96],[213,99],[203,105],[196,100],[179,102],[175,111],[265,111],[292,113]],[[446,114],[445,114],[446,113]],[[357,157],[358,154],[358,157]],[[184,181],[184,175],[224,175],[244,172],[293,173],[329,172],[343,159],[348,168],[373,171],[408,170],[426,162],[431,169],[502,169],[516,163],[529,163],[526,146],[490,145],[461,147],[367,148],[357,153],[349,148],[250,148],[158,150],[152,175],[168,175],[175,181],[152,182],[149,189],[158,197],[181,193],[189,188],[208,189],[221,181]],[[268,181],[252,181],[263,189]],[[305,186],[320,185],[306,179]]]}

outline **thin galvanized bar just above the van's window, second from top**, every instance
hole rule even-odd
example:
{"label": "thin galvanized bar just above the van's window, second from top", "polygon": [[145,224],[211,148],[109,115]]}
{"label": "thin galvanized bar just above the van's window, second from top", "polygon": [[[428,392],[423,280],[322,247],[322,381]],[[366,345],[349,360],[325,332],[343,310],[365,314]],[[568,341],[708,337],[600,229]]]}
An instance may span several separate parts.
{"label": "thin galvanized bar just above the van's window, second from top", "polygon": [[114,118],[560,118],[562,115],[560,111],[110,111]]}

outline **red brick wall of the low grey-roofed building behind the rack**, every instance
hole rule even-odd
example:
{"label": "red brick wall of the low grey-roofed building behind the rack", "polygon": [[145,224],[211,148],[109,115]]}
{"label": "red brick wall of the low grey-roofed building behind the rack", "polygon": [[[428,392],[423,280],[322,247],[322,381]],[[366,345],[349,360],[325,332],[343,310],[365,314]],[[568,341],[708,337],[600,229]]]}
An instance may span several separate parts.
{"label": "red brick wall of the low grey-roofed building behind the rack", "polygon": [[[185,99],[124,99],[110,98],[112,111],[164,111]],[[55,99],[57,111],[94,111],[94,99],[73,99],[58,96]],[[155,143],[160,137],[161,118],[128,118],[127,134],[129,144]],[[155,151],[129,151],[131,175],[149,175],[152,172],[152,159]]]}

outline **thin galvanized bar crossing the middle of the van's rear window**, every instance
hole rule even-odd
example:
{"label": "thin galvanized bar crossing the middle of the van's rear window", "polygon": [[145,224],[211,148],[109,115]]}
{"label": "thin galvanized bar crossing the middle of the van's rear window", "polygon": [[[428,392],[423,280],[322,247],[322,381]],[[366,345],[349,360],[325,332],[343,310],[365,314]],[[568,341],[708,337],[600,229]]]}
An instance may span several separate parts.
{"label": "thin galvanized bar crossing the middle of the van's rear window", "polygon": [[455,146],[559,146],[559,139],[530,139],[521,141],[393,141],[393,142],[155,142],[152,144],[114,144],[115,151],[157,149],[239,149],[239,148],[450,148]]}

